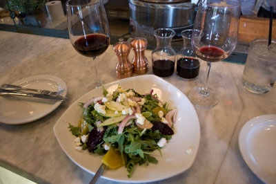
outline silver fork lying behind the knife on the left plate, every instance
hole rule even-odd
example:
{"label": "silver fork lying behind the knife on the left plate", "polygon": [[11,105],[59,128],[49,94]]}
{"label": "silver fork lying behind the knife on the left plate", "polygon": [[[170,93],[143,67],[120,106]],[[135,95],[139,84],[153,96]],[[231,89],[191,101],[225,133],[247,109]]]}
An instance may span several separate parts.
{"label": "silver fork lying behind the knife on the left plate", "polygon": [[43,95],[61,95],[65,89],[61,89],[60,91],[48,91],[48,90],[42,90],[42,89],[29,89],[29,88],[23,88],[21,86],[12,85],[12,84],[3,84],[1,86],[1,89],[7,89],[7,90],[13,90],[13,91],[35,91],[37,93],[43,94]]}

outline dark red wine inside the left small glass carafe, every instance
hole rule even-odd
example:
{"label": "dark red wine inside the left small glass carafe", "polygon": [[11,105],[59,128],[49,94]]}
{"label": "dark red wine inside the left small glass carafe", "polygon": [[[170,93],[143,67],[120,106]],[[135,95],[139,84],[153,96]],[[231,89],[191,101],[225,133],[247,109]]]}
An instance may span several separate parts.
{"label": "dark red wine inside the left small glass carafe", "polygon": [[159,59],[152,62],[152,72],[159,77],[169,77],[175,70],[175,62],[169,59]]}

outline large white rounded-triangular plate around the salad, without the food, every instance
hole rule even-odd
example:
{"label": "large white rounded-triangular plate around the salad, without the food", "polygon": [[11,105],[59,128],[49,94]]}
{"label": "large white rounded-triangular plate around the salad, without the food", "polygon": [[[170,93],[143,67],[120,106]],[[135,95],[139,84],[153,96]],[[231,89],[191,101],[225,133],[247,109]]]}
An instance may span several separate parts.
{"label": "large white rounded-triangular plate around the salad, without the food", "polygon": [[[112,181],[138,183],[158,181],[186,171],[195,160],[200,138],[197,113],[193,104],[186,98],[186,95],[172,84],[155,75],[140,75],[118,80],[106,84],[105,88],[108,91],[115,91],[118,84],[124,89],[132,88],[141,94],[150,93],[150,90],[153,89],[153,93],[157,93],[161,100],[168,102],[171,108],[177,109],[176,132],[170,142],[168,142],[168,145],[161,149],[162,156],[160,156],[159,151],[154,152],[154,156],[159,160],[157,165],[150,164],[148,167],[137,165],[131,178],[128,178],[128,172],[125,167],[105,169],[102,177]],[[97,172],[103,156],[89,154],[87,150],[76,151],[75,143],[73,142],[75,136],[69,131],[68,123],[75,126],[78,125],[82,114],[82,109],[78,102],[86,102],[90,98],[99,95],[103,95],[101,87],[83,95],[63,113],[54,127],[55,136],[67,156],[79,167],[92,174]]]}

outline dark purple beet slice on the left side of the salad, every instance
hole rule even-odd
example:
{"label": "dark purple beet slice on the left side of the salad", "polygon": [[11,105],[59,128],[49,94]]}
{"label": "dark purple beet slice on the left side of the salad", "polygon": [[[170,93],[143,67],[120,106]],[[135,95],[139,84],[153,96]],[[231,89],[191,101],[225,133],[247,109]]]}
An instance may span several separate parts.
{"label": "dark purple beet slice on the left side of the salad", "polygon": [[104,127],[102,131],[99,131],[99,129],[96,127],[90,131],[87,140],[87,147],[89,152],[92,152],[93,149],[99,144],[99,142],[101,142],[104,133],[106,133],[106,127]]}

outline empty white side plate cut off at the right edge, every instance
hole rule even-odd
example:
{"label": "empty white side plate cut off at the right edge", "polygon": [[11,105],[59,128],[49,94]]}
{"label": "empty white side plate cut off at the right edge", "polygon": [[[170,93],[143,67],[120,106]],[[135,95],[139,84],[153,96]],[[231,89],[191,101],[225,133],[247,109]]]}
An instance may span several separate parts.
{"label": "empty white side plate cut off at the right edge", "polygon": [[258,116],[239,133],[239,149],[246,164],[265,183],[276,182],[276,115]]}

